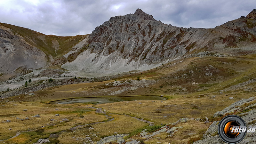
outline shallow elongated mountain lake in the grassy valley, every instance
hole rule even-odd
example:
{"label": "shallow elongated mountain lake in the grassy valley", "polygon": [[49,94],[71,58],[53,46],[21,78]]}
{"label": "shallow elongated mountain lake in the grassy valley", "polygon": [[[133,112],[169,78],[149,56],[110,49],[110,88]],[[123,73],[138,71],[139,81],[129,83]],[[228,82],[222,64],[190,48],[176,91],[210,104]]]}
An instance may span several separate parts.
{"label": "shallow elongated mountain lake in the grassy valley", "polygon": [[67,100],[53,101],[51,104],[71,104],[71,103],[111,103],[118,101],[132,101],[132,100],[166,100],[164,97],[160,96],[130,96],[130,97],[99,97],[99,98],[76,98]]}

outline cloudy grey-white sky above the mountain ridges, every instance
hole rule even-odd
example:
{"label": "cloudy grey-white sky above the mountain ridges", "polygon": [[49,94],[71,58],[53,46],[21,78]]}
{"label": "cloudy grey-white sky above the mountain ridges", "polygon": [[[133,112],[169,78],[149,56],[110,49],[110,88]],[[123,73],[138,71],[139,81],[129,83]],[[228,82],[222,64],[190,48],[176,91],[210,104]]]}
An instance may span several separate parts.
{"label": "cloudy grey-white sky above the mountain ridges", "polygon": [[0,22],[50,35],[90,34],[111,16],[137,8],[178,27],[214,28],[246,16],[255,0],[0,0]]}

